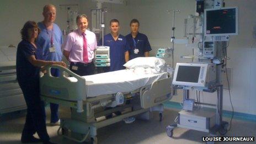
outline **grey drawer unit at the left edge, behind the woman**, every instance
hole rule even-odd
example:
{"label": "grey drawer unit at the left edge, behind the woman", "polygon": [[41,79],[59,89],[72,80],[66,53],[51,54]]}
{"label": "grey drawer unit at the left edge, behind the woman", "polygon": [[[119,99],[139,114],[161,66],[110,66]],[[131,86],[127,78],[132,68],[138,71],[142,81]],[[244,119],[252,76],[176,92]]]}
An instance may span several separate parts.
{"label": "grey drawer unit at the left edge, behind the woman", "polygon": [[0,46],[0,114],[26,109],[16,77],[16,51],[14,46]]}

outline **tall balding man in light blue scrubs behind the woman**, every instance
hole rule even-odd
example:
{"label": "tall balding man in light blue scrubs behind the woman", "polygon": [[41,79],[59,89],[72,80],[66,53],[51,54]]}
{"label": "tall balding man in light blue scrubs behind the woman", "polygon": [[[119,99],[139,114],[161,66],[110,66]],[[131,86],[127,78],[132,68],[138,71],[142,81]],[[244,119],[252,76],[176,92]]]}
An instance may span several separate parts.
{"label": "tall balding man in light blue scrubs behind the woman", "polygon": [[[45,61],[61,61],[61,45],[63,40],[60,28],[54,23],[56,19],[56,7],[52,4],[46,5],[42,15],[44,15],[44,21],[38,23],[41,33],[38,35],[38,40],[36,41],[36,44],[39,45],[39,49],[36,50],[38,59]],[[51,69],[51,74],[55,77],[60,76],[60,72],[54,68]],[[50,103],[50,109],[51,124],[58,124],[58,104]]]}

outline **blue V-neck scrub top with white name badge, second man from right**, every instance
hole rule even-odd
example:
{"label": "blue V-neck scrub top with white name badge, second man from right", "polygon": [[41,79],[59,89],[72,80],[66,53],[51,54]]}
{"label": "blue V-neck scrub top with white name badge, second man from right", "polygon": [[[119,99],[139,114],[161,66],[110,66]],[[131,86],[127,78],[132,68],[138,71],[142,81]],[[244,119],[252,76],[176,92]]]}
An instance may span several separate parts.
{"label": "blue V-neck scrub top with white name badge, second man from right", "polygon": [[[102,45],[102,39],[98,42]],[[125,52],[129,50],[129,44],[125,36],[119,35],[115,41],[111,34],[104,35],[104,46],[110,47],[110,71],[125,69]]]}

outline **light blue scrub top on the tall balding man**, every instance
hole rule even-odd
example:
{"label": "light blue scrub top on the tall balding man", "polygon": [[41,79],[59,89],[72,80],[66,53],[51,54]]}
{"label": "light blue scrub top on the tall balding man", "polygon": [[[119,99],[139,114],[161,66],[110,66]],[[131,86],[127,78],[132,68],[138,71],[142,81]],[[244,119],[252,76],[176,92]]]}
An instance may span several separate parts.
{"label": "light blue scrub top on the tall balding man", "polygon": [[[40,47],[36,49],[36,54],[38,55],[39,60],[46,61],[61,61],[62,60],[62,51],[61,45],[63,43],[62,33],[58,25],[54,24],[54,29],[47,30],[45,25],[42,22],[38,23],[39,28],[41,29],[36,44]],[[51,36],[55,47],[55,52],[50,52],[51,47]]]}

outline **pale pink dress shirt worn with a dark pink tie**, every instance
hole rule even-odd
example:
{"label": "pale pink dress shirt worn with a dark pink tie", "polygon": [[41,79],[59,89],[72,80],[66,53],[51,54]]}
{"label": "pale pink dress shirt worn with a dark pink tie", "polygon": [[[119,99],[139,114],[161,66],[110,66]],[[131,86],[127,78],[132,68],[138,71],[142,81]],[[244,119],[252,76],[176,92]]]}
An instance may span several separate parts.
{"label": "pale pink dress shirt worn with a dark pink tie", "polygon": [[[94,50],[97,47],[96,36],[92,31],[86,30],[88,63],[93,61]],[[68,61],[83,62],[83,35],[78,29],[67,35],[64,50],[70,52]]]}

